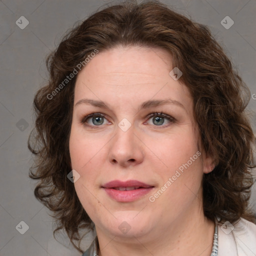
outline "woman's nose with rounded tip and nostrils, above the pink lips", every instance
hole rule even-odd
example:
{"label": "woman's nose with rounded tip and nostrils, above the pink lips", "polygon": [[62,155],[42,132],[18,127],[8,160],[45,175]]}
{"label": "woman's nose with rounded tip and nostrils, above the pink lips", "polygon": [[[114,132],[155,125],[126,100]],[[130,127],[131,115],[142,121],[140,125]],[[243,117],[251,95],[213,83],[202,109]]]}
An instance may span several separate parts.
{"label": "woman's nose with rounded tip and nostrils, above the pink lips", "polygon": [[108,159],[112,164],[128,167],[143,161],[143,144],[134,133],[133,125],[126,131],[116,127],[116,133],[109,146]]}

